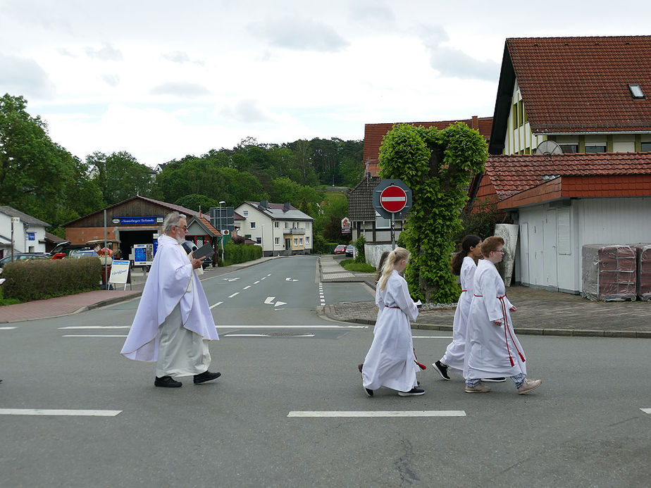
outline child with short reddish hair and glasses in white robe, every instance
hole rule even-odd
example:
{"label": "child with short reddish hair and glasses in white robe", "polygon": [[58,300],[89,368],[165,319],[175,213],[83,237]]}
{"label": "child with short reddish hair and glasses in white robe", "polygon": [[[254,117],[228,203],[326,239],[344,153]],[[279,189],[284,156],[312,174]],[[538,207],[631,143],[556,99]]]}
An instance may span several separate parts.
{"label": "child with short reddish hair and glasses in white robe", "polygon": [[469,351],[466,351],[466,393],[490,392],[483,377],[509,376],[519,394],[540,386],[542,380],[526,378],[526,357],[513,330],[504,281],[495,264],[504,256],[504,239],[488,237],[481,246],[484,259],[475,272],[473,301],[468,315]]}

